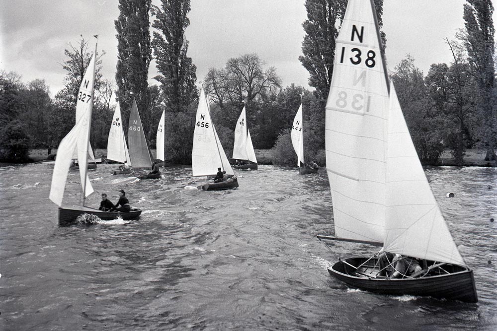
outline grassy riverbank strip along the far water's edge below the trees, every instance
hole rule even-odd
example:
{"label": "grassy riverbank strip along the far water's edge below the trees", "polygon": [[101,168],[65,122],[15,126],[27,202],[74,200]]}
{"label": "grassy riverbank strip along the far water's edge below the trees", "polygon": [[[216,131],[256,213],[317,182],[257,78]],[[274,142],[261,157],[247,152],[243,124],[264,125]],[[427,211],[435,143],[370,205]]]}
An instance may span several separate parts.
{"label": "grassy riverbank strip along the far water's edge below the trees", "polygon": [[[97,148],[95,149],[95,157],[102,157],[107,155],[107,149]],[[57,153],[57,149],[52,150],[52,154]],[[156,150],[152,149],[152,155],[156,155]],[[256,149],[255,156],[257,157],[258,164],[272,164],[272,154],[271,149]],[[44,161],[48,157],[46,149],[31,149],[29,151],[29,158],[32,162]],[[485,150],[479,148],[467,149],[464,155],[464,165],[465,167],[495,167],[496,162],[484,161]],[[456,165],[450,150],[445,150],[442,156],[438,159],[436,164],[441,165]],[[324,166],[324,164],[322,164]]]}

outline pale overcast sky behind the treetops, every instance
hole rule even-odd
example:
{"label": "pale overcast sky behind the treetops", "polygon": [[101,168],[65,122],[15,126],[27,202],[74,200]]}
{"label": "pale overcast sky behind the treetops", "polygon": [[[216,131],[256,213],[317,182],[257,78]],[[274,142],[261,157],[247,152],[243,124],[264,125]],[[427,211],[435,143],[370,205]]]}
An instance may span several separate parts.
{"label": "pale overcast sky behind the treetops", "polygon": [[[406,54],[424,74],[433,63],[450,63],[444,38],[454,38],[464,27],[465,0],[384,0],[383,31],[387,35],[387,62],[392,70]],[[80,34],[99,35],[98,49],[105,79],[114,80],[117,41],[114,20],[117,0],[2,0],[0,68],[16,71],[22,81],[44,78],[54,95],[63,86],[64,49],[77,44]],[[153,0],[159,4],[159,0]],[[306,19],[304,0],[191,0],[186,30],[188,55],[197,66],[197,80],[210,67],[257,53],[266,66],[276,67],[283,86],[295,83],[309,88],[302,54]],[[494,22],[497,14],[494,14]],[[95,40],[92,38],[92,40]],[[150,83],[157,73],[150,66]]]}

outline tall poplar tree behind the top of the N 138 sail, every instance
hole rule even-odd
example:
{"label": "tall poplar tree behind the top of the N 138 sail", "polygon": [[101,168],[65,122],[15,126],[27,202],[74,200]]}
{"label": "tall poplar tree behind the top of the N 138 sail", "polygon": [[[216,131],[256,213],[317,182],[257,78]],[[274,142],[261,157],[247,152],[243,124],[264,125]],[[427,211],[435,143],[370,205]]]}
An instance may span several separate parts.
{"label": "tall poplar tree behind the top of the N 138 sail", "polygon": [[[306,0],[307,20],[302,26],[306,32],[299,57],[302,66],[309,71],[309,85],[316,88],[318,99],[326,99],[330,91],[333,61],[338,36],[337,25],[341,24],[347,0]],[[380,28],[383,25],[383,0],[375,0],[376,15]],[[337,24],[339,23],[339,24]],[[382,33],[383,44],[385,34]]]}

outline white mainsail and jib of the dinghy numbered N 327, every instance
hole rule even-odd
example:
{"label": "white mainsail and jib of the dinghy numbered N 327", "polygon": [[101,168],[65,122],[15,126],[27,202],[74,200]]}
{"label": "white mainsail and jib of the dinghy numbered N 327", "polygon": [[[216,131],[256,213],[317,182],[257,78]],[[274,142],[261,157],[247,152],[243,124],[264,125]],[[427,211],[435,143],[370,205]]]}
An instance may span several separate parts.
{"label": "white mainsail and jib of the dinghy numbered N 327", "polygon": [[95,80],[95,53],[90,60],[81,82],[76,102],[76,125],[62,139],[57,149],[52,185],[50,187],[50,199],[62,205],[64,190],[71,158],[76,154],[80,164],[80,179],[83,189],[83,199],[93,193],[90,180],[86,174],[89,149],[89,135],[91,127],[91,110],[93,107],[93,82]]}

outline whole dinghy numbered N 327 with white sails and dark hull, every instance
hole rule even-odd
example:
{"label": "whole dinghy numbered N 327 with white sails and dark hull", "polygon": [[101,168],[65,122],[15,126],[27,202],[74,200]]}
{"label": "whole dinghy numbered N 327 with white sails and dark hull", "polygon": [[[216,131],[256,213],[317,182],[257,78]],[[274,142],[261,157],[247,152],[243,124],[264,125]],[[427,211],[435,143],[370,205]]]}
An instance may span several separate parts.
{"label": "whole dinghy numbered N 327 with white sails and dark hull", "polygon": [[76,153],[80,164],[86,164],[89,150],[89,136],[91,126],[91,110],[93,107],[93,83],[95,79],[95,53],[86,69],[76,102],[77,121],[73,129],[62,139],[58,147],[55,160],[50,199],[59,205],[59,225],[68,225],[76,221],[77,217],[87,213],[109,220],[121,217],[124,220],[135,219],[141,214],[140,209],[133,208],[130,212],[105,212],[84,205],[86,197],[93,193],[86,167],[80,168],[80,179],[83,189],[83,203],[78,207],[62,207],[66,188],[69,166]]}

